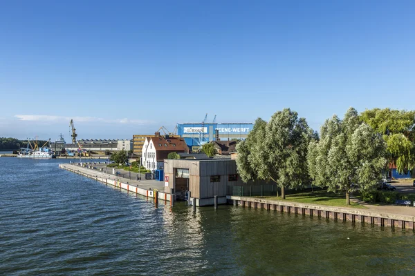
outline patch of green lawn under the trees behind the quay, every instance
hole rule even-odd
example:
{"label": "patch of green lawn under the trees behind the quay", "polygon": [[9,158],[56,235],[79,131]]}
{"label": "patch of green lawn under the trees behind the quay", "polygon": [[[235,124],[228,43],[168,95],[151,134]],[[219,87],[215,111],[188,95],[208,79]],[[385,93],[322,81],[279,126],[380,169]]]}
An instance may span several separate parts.
{"label": "patch of green lawn under the trees behind the quay", "polygon": [[[266,197],[266,199],[283,200],[281,197]],[[326,190],[317,190],[315,192],[298,193],[295,195],[286,195],[286,201],[294,201],[305,204],[319,204],[336,207],[349,207],[366,209],[365,206],[350,202],[351,205],[346,205],[345,195],[336,195],[335,193],[328,193]]]}

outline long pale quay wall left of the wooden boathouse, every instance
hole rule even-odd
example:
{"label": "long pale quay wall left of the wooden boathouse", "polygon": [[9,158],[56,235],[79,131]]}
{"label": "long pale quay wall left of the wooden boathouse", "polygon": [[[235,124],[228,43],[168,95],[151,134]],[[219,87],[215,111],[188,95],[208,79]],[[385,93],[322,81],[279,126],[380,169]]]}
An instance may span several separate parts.
{"label": "long pale quay wall left of the wooden boathouse", "polygon": [[[95,173],[95,175],[89,174],[87,172],[84,171],[80,171],[80,170],[75,170],[74,168],[71,168],[73,165],[68,165],[68,164],[59,164],[59,168],[62,168],[64,170],[68,170],[70,172],[74,172],[77,175],[82,175],[83,177],[88,177],[90,179],[93,179],[95,181],[100,181],[106,185],[111,185],[117,188],[121,188],[124,190],[127,190],[128,192],[131,193],[136,193],[137,195],[143,195],[145,197],[150,197],[150,198],[155,198],[155,190],[147,190],[145,188],[140,188],[136,185],[133,184],[127,184],[124,183],[120,180],[114,180],[114,179],[109,179],[109,178],[105,178],[105,177],[98,177]],[[157,199],[161,199],[164,201],[170,201],[171,202],[171,198],[172,195],[169,193],[164,193],[164,192],[160,192],[157,191]]]}

